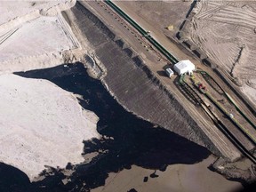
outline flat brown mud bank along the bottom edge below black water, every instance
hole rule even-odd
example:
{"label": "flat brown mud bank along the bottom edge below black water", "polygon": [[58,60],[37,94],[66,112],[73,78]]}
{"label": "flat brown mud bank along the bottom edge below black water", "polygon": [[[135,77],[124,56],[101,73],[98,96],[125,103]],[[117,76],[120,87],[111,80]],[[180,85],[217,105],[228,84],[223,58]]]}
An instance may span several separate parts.
{"label": "flat brown mud bank along the bottom edge below black water", "polygon": [[[164,172],[156,171],[156,178],[150,177],[154,170],[132,165],[131,170],[109,173],[105,186],[92,189],[92,192],[120,192],[132,188],[140,192],[232,192],[242,188],[240,183],[226,180],[207,168],[214,159],[209,156],[198,164],[169,165]],[[147,182],[144,182],[145,177],[148,177]]]}

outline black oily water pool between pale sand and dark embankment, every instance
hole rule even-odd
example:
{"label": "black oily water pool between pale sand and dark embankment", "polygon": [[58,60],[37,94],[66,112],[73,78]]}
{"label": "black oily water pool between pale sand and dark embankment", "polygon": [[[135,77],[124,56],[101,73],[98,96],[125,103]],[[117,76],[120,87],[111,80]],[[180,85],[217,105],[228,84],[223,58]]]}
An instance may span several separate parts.
{"label": "black oily water pool between pale sand and dark embankment", "polygon": [[[0,190],[9,188],[13,191],[14,187],[17,189],[17,186],[22,185],[20,191],[90,191],[91,188],[104,185],[109,172],[130,169],[132,164],[152,169],[152,172],[155,170],[164,172],[168,164],[196,164],[210,155],[207,149],[173,132],[154,127],[153,124],[124,110],[99,80],[87,75],[82,63],[15,74],[28,78],[47,79],[68,92],[82,95],[83,100],[79,100],[81,106],[99,116],[97,132],[104,137],[100,140],[81,140],[81,144],[84,142],[83,155],[99,153],[92,158],[92,161],[74,165],[67,162],[66,169],[52,168],[50,173],[44,171],[42,173],[44,180],[33,183],[29,183],[23,172],[16,170],[17,177],[20,175],[22,181],[14,178],[4,180],[1,182]],[[9,171],[7,172],[8,168],[5,167],[3,173],[2,167],[7,165],[0,166],[0,175],[4,177]],[[67,170],[72,170],[73,173],[67,176],[65,173]],[[64,179],[69,180],[63,182]]]}

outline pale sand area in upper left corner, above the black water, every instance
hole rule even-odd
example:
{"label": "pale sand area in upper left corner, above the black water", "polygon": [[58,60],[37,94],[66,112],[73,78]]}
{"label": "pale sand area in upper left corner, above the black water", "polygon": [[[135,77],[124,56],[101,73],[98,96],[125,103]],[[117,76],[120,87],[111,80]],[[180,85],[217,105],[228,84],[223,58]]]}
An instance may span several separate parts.
{"label": "pale sand area in upper left corner, above the black water", "polygon": [[75,0],[1,2],[0,74],[79,60],[80,44],[60,13],[75,4]]}

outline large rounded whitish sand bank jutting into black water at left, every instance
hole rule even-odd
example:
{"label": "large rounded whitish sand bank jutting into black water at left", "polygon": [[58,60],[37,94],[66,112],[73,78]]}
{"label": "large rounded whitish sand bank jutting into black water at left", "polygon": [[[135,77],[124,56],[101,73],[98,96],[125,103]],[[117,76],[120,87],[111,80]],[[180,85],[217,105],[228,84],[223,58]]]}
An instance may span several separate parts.
{"label": "large rounded whitish sand bank jutting into black water at left", "polygon": [[100,137],[98,117],[55,84],[3,75],[0,92],[0,161],[30,180],[44,165],[83,162],[83,140]]}

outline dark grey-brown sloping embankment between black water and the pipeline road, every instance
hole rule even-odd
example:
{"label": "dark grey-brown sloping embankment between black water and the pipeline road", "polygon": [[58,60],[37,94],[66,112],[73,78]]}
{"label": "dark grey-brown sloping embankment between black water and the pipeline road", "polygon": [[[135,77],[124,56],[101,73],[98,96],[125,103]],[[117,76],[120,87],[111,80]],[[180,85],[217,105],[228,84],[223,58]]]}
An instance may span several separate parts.
{"label": "dark grey-brown sloping embankment between black water and the pipeline road", "polygon": [[115,34],[83,5],[76,4],[71,12],[84,41],[92,45],[98,64],[105,70],[101,72],[105,73],[102,82],[124,108],[221,156],[194,119],[122,39],[116,40]]}

